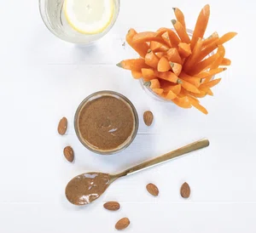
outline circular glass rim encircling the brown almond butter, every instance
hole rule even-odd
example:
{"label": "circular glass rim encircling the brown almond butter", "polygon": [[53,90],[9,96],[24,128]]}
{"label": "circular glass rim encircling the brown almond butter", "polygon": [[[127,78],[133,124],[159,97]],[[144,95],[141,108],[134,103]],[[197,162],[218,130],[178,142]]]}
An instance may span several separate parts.
{"label": "circular glass rim encircling the brown almond butter", "polygon": [[[104,95],[108,95],[108,96],[111,95],[113,97],[116,96],[116,97],[119,97],[120,99],[122,99],[127,105],[129,105],[131,107],[132,115],[134,117],[134,128],[133,128],[131,135],[125,140],[125,142],[122,145],[120,145],[120,147],[115,148],[113,150],[108,150],[108,151],[100,151],[100,150],[96,150],[96,148],[90,147],[90,145],[88,145],[84,142],[84,139],[82,138],[82,136],[79,133],[79,113],[80,113],[80,111],[90,101],[90,99],[92,99],[96,96],[104,96]],[[101,98],[101,97],[99,97],[99,98]],[[79,104],[79,106],[75,112],[75,117],[74,117],[73,123],[74,123],[75,133],[76,133],[80,143],[82,145],[84,145],[85,148],[87,148],[89,151],[92,151],[96,154],[108,156],[108,155],[113,155],[113,154],[119,153],[120,151],[124,151],[129,145],[131,145],[131,143],[137,136],[139,119],[138,119],[137,110],[136,110],[135,106],[131,103],[130,99],[125,97],[125,95],[119,94],[118,92],[114,92],[114,91],[110,91],[110,90],[102,90],[102,91],[98,91],[93,94],[90,94]]]}

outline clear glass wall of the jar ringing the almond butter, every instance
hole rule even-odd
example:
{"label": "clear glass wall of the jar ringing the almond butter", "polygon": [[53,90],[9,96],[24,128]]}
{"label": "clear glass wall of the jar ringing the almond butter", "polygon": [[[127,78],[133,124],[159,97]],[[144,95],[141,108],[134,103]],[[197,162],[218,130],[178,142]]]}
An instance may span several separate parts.
{"label": "clear glass wall of the jar ringing the almond butter", "polygon": [[[90,145],[89,142],[86,141],[86,139],[83,138],[80,130],[79,130],[79,117],[80,117],[80,113],[81,111],[84,109],[84,107],[86,107],[87,104],[90,103],[90,101],[94,100],[94,99],[99,99],[103,96],[111,96],[114,97],[116,99],[120,99],[122,101],[125,102],[126,105],[129,106],[129,108],[131,109],[131,113],[133,116],[133,129],[131,132],[131,135],[125,140],[124,143],[122,143],[121,145],[119,145],[117,148],[114,148],[112,150],[108,150],[108,151],[104,151],[104,150],[100,150],[98,148],[96,148],[93,145]],[[129,145],[131,145],[131,142],[133,141],[133,139],[135,139],[136,135],[137,135],[137,130],[138,130],[138,116],[137,116],[137,111],[136,108],[134,107],[134,105],[132,105],[131,101],[129,99],[127,99],[124,95],[113,92],[113,91],[100,91],[100,92],[96,92],[94,94],[90,94],[87,98],[85,98],[82,103],[79,105],[76,113],[75,113],[75,117],[74,117],[74,128],[75,128],[75,132],[79,138],[79,141],[90,151],[93,151],[97,154],[101,154],[101,155],[112,155],[115,153],[118,153],[119,151],[123,151],[125,150],[125,148],[127,148]]]}

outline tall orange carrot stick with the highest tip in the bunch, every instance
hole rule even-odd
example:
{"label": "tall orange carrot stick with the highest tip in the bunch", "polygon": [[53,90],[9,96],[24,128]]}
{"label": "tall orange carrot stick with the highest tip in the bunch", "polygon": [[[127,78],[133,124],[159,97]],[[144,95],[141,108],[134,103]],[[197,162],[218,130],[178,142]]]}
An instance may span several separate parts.
{"label": "tall orange carrot stick with the highest tip in the bunch", "polygon": [[203,9],[201,9],[201,12],[198,15],[198,18],[195,24],[195,29],[191,39],[192,50],[194,49],[195,43],[197,42],[198,38],[204,37],[205,31],[207,30],[209,16],[210,16],[210,6],[207,4]]}

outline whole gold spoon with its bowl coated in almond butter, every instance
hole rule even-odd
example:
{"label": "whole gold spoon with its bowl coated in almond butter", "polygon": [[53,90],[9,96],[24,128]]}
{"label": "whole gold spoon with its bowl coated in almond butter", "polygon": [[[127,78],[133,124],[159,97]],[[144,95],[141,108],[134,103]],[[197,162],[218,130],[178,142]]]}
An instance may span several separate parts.
{"label": "whole gold spoon with its bowl coated in almond butter", "polygon": [[189,145],[185,145],[175,151],[171,151],[163,156],[158,156],[147,162],[143,162],[133,168],[129,168],[122,173],[108,174],[108,173],[83,173],[69,181],[66,187],[67,200],[74,205],[82,206],[89,204],[99,198],[102,193],[107,190],[108,186],[116,179],[123,177],[127,174],[136,173],[145,168],[153,167],[156,164],[166,162],[177,156],[182,156],[191,151],[196,151],[201,148],[207,147],[209,141],[201,139]]}

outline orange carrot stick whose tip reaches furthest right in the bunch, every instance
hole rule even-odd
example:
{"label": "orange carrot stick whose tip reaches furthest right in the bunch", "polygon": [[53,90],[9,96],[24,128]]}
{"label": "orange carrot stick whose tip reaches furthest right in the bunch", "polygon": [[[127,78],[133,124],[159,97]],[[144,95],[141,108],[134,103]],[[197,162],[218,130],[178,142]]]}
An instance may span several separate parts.
{"label": "orange carrot stick whose tip reaches furthest right in the bunch", "polygon": [[207,45],[206,48],[204,48],[201,51],[201,54],[198,57],[198,60],[203,60],[208,54],[211,54],[214,49],[218,48],[218,45],[221,45],[230,41],[230,39],[232,39],[233,37],[236,37],[236,35],[237,35],[236,32],[228,32],[224,34],[224,36],[218,38],[217,41],[210,43],[209,45]]}

